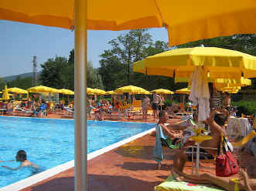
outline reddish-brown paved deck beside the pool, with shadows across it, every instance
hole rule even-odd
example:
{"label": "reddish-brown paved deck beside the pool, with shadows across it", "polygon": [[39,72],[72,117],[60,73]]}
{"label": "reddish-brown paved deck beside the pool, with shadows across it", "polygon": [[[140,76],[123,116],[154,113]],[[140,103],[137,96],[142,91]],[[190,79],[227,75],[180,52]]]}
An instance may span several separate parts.
{"label": "reddish-brown paved deck beside the pool, with shadows across it", "polygon": [[[49,116],[55,118],[54,116]],[[121,119],[121,121],[142,122],[138,119]],[[114,117],[111,120],[116,120]],[[170,123],[179,119],[171,119]],[[152,117],[148,122],[155,122]],[[87,185],[88,190],[154,190],[154,186],[162,183],[169,176],[173,164],[174,155],[177,150],[167,150],[166,159],[162,162],[162,168],[157,169],[157,163],[152,159],[155,145],[155,136],[142,136],[135,141],[129,142],[117,149],[105,152],[101,156],[90,159],[88,165]],[[241,166],[248,167],[248,174],[256,178],[256,163],[254,156],[243,152],[241,155]],[[202,163],[211,169],[200,169],[200,173],[215,173],[213,164]],[[191,173],[191,163],[186,163],[185,173]],[[74,190],[74,168],[67,169],[42,182],[22,189],[22,191],[51,191]]]}

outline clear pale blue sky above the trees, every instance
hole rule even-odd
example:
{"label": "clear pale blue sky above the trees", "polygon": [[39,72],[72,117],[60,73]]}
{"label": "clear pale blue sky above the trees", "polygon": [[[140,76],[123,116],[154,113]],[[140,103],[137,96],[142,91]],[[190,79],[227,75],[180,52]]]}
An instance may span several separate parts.
{"label": "clear pale blue sky above the trees", "polygon": [[[9,21],[0,21],[0,28],[0,77],[32,72],[33,55],[37,56],[40,65],[56,55],[68,59],[74,48],[74,32],[67,29]],[[153,41],[168,42],[165,28],[152,28],[148,32]],[[87,32],[87,60],[94,68],[99,67],[99,55],[111,49],[108,42],[121,34],[125,31]],[[40,67],[37,70],[41,70]]]}

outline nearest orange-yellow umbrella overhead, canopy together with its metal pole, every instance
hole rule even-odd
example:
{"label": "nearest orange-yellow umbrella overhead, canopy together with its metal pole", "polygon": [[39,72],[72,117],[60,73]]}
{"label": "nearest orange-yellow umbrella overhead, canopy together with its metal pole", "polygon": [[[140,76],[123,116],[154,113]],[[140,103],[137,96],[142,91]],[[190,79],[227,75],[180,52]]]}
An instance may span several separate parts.
{"label": "nearest orange-yellow umbrella overhead, canopy together with its metal pole", "polygon": [[171,44],[176,45],[220,35],[255,33],[255,6],[254,0],[234,0],[232,3],[220,0],[114,0],[111,3],[92,0],[0,1],[0,19],[62,28],[75,26],[76,190],[86,188],[86,109],[83,100],[86,99],[87,29],[121,30],[165,26],[169,39],[172,39]]}

